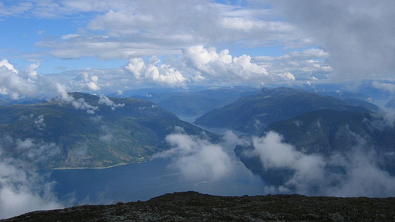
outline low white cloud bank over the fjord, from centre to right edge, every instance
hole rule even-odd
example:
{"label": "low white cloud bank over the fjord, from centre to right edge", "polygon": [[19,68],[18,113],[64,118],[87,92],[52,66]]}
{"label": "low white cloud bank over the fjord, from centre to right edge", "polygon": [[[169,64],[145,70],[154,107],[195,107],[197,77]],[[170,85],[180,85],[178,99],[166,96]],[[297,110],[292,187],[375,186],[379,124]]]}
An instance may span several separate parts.
{"label": "low white cloud bank over the fjord, from centre to right edge", "polygon": [[171,158],[169,167],[187,181],[242,178],[238,173],[243,171],[236,170],[240,166],[234,158],[233,148],[236,145],[252,144],[253,149],[245,151],[243,155],[258,157],[264,171],[289,174],[283,177],[285,180],[281,184],[262,187],[263,193],[371,197],[395,195],[395,177],[378,165],[376,154],[364,148],[362,138],[359,140],[359,145],[349,152],[324,157],[297,150],[284,143],[282,136],[276,132],[268,132],[260,138],[253,137],[251,141],[239,139],[227,132],[223,143],[213,144],[179,131],[166,137],[166,142],[172,148],[155,155],[155,158]]}

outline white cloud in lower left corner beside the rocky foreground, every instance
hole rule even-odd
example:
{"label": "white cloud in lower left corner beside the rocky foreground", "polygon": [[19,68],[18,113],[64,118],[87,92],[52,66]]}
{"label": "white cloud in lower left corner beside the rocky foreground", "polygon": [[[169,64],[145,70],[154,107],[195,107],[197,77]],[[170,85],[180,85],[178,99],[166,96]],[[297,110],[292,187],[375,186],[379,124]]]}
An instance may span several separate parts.
{"label": "white cloud in lower left corner beside the rocky foreground", "polygon": [[[19,141],[18,144],[23,149],[34,146],[30,140]],[[31,170],[26,162],[6,157],[0,150],[0,168],[1,218],[36,210],[63,208],[53,192],[54,183]]]}

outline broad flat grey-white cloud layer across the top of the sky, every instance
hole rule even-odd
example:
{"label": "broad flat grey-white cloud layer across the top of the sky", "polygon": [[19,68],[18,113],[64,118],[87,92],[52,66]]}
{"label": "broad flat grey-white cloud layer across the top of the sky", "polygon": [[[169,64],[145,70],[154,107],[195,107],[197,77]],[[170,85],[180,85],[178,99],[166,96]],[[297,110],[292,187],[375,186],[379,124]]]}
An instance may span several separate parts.
{"label": "broad flat grey-white cloud layer across the top of the sky", "polygon": [[[307,36],[293,25],[270,15],[273,12],[268,12],[272,10],[265,4],[247,2],[241,7],[208,0],[89,2],[72,1],[48,7],[48,12],[84,17],[82,12],[90,11],[95,17],[78,34],[44,40],[38,45],[50,48],[51,55],[62,58],[131,59],[179,54],[181,48],[196,44],[303,46],[308,42]],[[48,15],[51,16],[56,15]],[[97,32],[107,37],[97,36]]]}

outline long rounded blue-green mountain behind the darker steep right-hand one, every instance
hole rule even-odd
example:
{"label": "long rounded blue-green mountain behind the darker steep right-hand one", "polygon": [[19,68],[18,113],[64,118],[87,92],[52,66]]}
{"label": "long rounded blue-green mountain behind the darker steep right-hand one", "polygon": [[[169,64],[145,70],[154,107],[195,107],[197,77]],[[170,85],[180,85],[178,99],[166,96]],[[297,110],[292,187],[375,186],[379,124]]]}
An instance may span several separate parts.
{"label": "long rounded blue-green mountain behind the darker steep right-hand one", "polygon": [[194,123],[260,134],[272,122],[290,119],[308,111],[323,109],[356,112],[379,110],[377,106],[367,102],[340,100],[301,89],[263,88],[258,93],[207,112],[197,118]]}

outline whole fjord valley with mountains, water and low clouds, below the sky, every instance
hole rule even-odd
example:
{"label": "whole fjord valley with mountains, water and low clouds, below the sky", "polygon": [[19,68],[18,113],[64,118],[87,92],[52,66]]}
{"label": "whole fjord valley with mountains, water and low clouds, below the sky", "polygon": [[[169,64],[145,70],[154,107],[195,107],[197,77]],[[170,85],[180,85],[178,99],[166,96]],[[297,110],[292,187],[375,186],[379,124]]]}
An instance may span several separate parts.
{"label": "whole fjord valley with mountains, water and low clouds, below the sky", "polygon": [[[233,98],[233,91],[222,97],[227,93]],[[195,95],[183,96],[172,104],[190,107],[185,101]],[[219,109],[177,116],[142,99],[69,93],[0,111],[2,158],[24,161],[29,167],[20,173],[40,169],[39,180],[27,181],[55,182],[50,193],[64,206],[148,200],[180,190],[372,197],[395,191],[374,177],[395,181],[394,125],[361,100],[264,88]],[[213,124],[195,125],[207,116]],[[252,119],[264,124],[252,126]],[[368,169],[374,172],[368,178],[355,175]],[[350,191],[355,176],[357,183],[378,183]]]}

